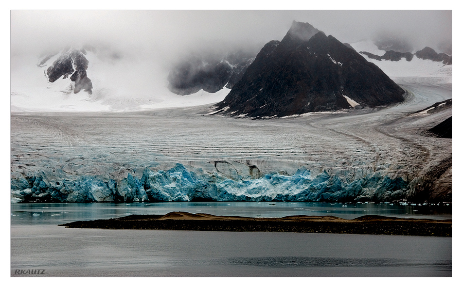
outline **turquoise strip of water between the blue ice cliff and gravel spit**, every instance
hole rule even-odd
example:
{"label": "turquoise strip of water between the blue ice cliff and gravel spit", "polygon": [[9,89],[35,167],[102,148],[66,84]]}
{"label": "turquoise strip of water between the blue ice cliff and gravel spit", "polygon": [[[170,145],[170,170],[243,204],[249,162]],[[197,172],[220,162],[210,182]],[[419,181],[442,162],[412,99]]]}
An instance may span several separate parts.
{"label": "turquoise strip of water between the blue ice cliff and gravel spit", "polygon": [[171,211],[284,217],[289,215],[332,215],[353,219],[376,214],[401,218],[451,219],[451,207],[373,203],[318,202],[163,202],[163,203],[60,203],[11,204],[11,224],[60,224],[77,220],[123,217],[130,214],[166,214]]}

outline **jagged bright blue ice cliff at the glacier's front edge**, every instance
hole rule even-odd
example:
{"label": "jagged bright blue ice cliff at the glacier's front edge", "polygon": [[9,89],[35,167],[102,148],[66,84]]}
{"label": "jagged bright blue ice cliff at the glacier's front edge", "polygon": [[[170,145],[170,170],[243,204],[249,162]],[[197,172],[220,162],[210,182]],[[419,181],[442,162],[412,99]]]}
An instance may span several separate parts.
{"label": "jagged bright blue ice cliff at the glacier's front edge", "polygon": [[[60,184],[56,184],[60,182]],[[46,173],[11,178],[11,203],[20,202],[167,202],[167,201],[318,201],[358,199],[392,201],[404,197],[408,183],[373,172],[348,181],[326,171],[312,176],[305,168],[293,175],[266,174],[232,179],[195,173],[182,164],[169,170],[145,168],[142,176],[118,180],[98,175],[56,178]]]}

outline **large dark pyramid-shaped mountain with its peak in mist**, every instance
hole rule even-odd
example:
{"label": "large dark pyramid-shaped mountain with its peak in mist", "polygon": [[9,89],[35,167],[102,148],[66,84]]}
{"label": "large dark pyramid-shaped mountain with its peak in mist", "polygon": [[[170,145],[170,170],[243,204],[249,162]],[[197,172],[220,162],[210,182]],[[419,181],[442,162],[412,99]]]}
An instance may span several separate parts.
{"label": "large dark pyramid-shaped mountain with its peak in mist", "polygon": [[216,113],[272,117],[404,100],[405,91],[354,49],[308,23],[294,21],[282,41],[270,41]]}

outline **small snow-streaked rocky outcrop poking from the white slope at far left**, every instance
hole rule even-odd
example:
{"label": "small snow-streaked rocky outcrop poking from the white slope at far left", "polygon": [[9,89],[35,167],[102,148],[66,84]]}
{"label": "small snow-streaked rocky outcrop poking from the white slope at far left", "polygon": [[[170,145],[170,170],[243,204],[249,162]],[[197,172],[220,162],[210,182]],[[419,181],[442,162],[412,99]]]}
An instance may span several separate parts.
{"label": "small snow-streaked rocky outcrop poking from the white slope at far left", "polygon": [[[46,75],[48,81],[53,83],[60,79],[69,79],[73,82],[73,92],[77,94],[81,90],[91,94],[93,85],[91,80],[87,77],[88,60],[85,58],[87,54],[85,49],[69,48],[61,53],[61,55],[51,64],[47,70]],[[43,66],[54,55],[46,56],[38,65]]]}

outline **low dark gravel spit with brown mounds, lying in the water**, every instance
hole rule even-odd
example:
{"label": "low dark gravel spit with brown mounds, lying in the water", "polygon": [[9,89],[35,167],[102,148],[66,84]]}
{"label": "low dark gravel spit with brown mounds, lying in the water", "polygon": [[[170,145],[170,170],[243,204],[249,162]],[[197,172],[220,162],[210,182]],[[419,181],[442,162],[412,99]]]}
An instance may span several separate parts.
{"label": "low dark gravel spit with brown mounds, lying in the water", "polygon": [[452,237],[452,220],[402,219],[378,215],[352,220],[334,216],[250,218],[188,212],[166,215],[129,215],[107,220],[59,224],[69,228],[155,229],[232,232],[306,232]]}

